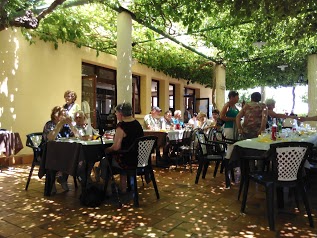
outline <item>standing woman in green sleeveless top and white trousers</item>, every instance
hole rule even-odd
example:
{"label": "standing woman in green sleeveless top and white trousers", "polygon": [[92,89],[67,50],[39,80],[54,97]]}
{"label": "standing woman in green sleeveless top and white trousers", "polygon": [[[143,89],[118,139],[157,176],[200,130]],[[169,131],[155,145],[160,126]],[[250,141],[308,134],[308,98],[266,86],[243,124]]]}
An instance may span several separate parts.
{"label": "standing woman in green sleeveless top and white trousers", "polygon": [[[225,122],[224,135],[227,139],[238,139],[238,131],[236,127],[236,116],[239,113],[239,109],[236,107],[236,103],[239,101],[239,93],[237,91],[230,91],[228,94],[229,101],[223,106],[220,119]],[[233,145],[228,145],[226,158],[229,159]]]}

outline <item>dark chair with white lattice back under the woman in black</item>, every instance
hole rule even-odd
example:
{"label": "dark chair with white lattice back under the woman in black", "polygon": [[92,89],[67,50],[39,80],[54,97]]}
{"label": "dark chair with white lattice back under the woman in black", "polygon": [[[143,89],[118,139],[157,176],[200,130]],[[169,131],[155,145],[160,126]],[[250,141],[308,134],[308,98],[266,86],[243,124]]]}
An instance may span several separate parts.
{"label": "dark chair with white lattice back under the woman in black", "polygon": [[[153,168],[151,164],[151,153],[153,149],[156,147],[156,142],[157,142],[156,136],[143,136],[138,138],[128,150],[120,150],[120,151],[116,151],[112,153],[113,155],[120,154],[123,157],[126,157],[133,154],[131,153],[132,151],[135,151],[135,150],[137,151],[136,158],[129,158],[131,160],[134,160],[135,164],[129,166],[127,169],[121,170],[126,172],[128,178],[133,179],[133,198],[134,198],[135,207],[139,207],[137,176],[141,176],[143,185],[144,185],[143,176],[145,176],[147,182],[152,182],[154,190],[155,190],[156,198],[160,199],[159,191],[157,188],[157,184],[156,184],[156,180],[155,180],[155,176],[154,176],[154,172],[153,172]],[[110,163],[107,163],[107,164],[110,165]],[[114,168],[111,168],[111,166],[109,166],[106,169],[108,170],[109,175],[106,176],[105,178],[104,191],[107,190],[109,179],[111,179],[114,182],[114,174],[120,173],[120,171],[116,171]],[[118,190],[116,189],[116,191]],[[119,205],[121,205],[120,200],[119,200]]]}

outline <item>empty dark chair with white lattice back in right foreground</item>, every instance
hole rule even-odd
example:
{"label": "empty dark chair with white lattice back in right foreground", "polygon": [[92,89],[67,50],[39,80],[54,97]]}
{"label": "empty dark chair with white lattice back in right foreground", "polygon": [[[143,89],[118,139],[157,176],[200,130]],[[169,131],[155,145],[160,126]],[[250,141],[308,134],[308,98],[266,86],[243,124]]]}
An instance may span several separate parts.
{"label": "empty dark chair with white lattice back in right foreground", "polygon": [[[267,218],[270,230],[275,229],[274,198],[277,188],[289,187],[295,189],[295,198],[298,206],[300,193],[306,208],[309,224],[314,227],[311,209],[304,182],[304,163],[311,153],[312,144],[306,142],[282,142],[271,144],[268,159],[272,163],[272,171],[250,172],[246,176],[241,212],[245,212],[250,180],[263,185],[266,191]],[[279,198],[278,198],[278,202]]]}

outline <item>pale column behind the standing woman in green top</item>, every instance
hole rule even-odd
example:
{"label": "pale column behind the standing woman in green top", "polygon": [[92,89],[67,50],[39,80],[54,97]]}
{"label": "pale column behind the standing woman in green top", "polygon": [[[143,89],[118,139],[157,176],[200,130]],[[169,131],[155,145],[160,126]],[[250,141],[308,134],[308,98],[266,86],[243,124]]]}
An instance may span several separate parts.
{"label": "pale column behind the standing woman in green top", "polygon": [[221,110],[226,100],[226,69],[221,64],[215,66],[216,73],[216,105]]}

